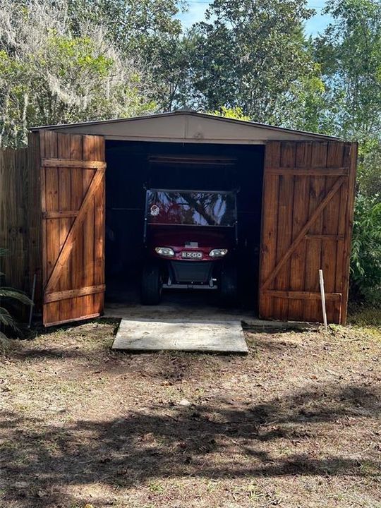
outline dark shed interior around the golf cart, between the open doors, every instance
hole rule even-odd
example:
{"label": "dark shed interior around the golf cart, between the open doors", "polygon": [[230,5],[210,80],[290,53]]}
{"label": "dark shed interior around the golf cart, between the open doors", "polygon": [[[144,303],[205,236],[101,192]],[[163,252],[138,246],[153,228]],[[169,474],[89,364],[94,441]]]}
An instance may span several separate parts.
{"label": "dark shed interior around the golf cart, between the open doors", "polygon": [[[256,298],[258,294],[264,152],[264,145],[107,140],[107,301],[139,300],[145,186],[198,191],[238,189],[238,306],[257,310],[253,295]],[[181,163],[166,157],[179,157]],[[224,163],[225,158],[229,164]],[[176,291],[175,298],[184,298],[181,293]],[[214,302],[214,295],[207,298]]]}

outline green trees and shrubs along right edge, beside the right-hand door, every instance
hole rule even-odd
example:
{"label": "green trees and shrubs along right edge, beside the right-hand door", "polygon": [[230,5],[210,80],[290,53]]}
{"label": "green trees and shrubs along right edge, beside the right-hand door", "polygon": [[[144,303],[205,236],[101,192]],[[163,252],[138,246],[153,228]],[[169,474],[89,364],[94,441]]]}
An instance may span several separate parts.
{"label": "green trees and shrubs along right edge, beside the right-hand door", "polygon": [[351,296],[381,301],[381,5],[334,0],[333,21],[315,40],[325,84],[318,123],[360,142],[351,252]]}

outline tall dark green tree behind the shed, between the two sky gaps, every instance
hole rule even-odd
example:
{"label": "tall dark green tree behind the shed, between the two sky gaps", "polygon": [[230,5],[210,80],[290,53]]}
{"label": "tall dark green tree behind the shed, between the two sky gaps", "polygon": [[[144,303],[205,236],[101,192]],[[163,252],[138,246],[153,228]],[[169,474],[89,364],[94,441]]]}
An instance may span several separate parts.
{"label": "tall dark green tree behind the shed, between the two sky gaps", "polygon": [[191,94],[198,109],[241,107],[250,119],[282,123],[290,88],[314,71],[303,21],[303,0],[214,0],[194,40]]}

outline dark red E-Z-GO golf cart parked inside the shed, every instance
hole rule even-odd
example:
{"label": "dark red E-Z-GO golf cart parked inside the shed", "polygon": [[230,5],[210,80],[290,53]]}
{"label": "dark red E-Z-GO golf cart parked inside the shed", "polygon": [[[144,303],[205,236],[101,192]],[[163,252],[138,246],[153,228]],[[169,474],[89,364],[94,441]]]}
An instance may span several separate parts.
{"label": "dark red E-Z-GO golf cart parked inside the shed", "polygon": [[162,289],[219,291],[236,303],[236,192],[148,189],[141,299],[159,303]]}

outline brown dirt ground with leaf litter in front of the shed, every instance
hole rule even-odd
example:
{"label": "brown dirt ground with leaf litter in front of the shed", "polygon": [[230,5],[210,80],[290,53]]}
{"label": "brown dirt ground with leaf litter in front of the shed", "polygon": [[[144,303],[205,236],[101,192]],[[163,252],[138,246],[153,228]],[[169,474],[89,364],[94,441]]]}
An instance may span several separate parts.
{"label": "brown dirt ground with leaf litter in front of the shed", "polygon": [[381,507],[381,327],[354,322],[247,329],[248,356],[112,352],[115,320],[14,341],[0,507]]}

